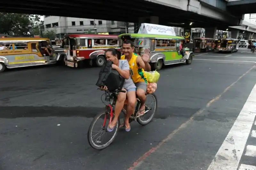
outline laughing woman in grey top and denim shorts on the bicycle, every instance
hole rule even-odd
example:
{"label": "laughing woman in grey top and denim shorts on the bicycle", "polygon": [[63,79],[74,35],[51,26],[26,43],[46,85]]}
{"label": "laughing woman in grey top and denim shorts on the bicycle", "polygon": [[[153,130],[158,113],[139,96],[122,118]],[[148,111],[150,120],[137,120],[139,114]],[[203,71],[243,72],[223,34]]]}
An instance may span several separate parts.
{"label": "laughing woman in grey top and denim shorts on the bicycle", "polygon": [[[126,93],[134,93],[134,96],[136,96],[136,86],[133,83],[131,76],[130,76],[129,63],[127,60],[120,60],[120,57],[121,57],[120,51],[118,51],[114,48],[109,48],[106,51],[107,60],[110,60],[113,62],[112,68],[115,69],[122,77],[125,78],[122,90],[125,90]],[[106,86],[101,87],[101,89],[108,90],[108,88]],[[116,122],[118,121],[119,114],[122,111],[122,108],[124,107],[126,93],[119,92],[119,94],[117,95],[116,107],[115,107],[115,117],[111,121],[110,125],[108,126],[107,130],[109,132],[113,131],[116,126]],[[136,101],[136,97],[134,98],[134,100]],[[129,124],[129,117],[127,117],[127,116],[125,117],[124,124],[125,124],[125,130],[127,132],[129,132],[131,130],[131,126]]]}

